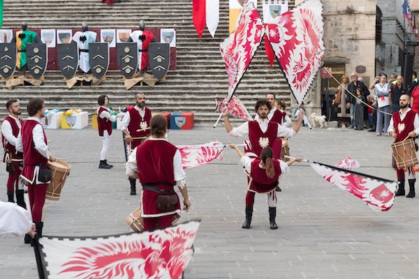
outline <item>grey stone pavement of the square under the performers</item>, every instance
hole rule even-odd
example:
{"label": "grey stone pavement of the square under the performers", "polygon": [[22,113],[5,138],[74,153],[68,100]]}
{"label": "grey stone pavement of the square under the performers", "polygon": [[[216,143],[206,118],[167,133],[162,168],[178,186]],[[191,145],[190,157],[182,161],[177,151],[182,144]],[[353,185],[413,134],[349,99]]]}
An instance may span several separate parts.
{"label": "grey stone pavement of the square under the performers", "polygon": [[[98,169],[97,131],[47,130],[54,156],[71,163],[59,202],[44,208],[45,235],[94,236],[130,232],[124,218],[139,204],[124,176],[122,135],[114,130],[108,161]],[[226,136],[223,127],[170,130],[174,144],[200,144]],[[308,130],[290,140],[291,155],[334,164],[358,159],[360,172],[395,179],[391,140],[366,130]],[[271,230],[265,195],[257,195],[251,229],[242,229],[246,178],[238,156],[187,169],[192,207],[181,220],[201,218],[196,253],[185,278],[419,278],[419,197],[397,197],[388,212],[332,186],[307,165],[281,177],[277,223]],[[6,171],[0,169],[6,201]],[[418,183],[419,184],[419,183]],[[1,236],[0,278],[37,278],[34,251],[22,238]]]}

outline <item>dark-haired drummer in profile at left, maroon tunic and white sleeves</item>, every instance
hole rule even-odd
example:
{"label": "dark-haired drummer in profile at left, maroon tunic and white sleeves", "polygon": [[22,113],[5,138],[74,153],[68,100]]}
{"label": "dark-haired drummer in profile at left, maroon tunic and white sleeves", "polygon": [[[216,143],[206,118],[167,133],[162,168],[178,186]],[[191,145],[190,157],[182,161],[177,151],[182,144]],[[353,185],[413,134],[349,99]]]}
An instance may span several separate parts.
{"label": "dark-haired drummer in profile at left, maroon tunic and white sleeves", "polygon": [[[47,183],[40,170],[47,168],[48,160],[54,162],[47,146],[47,136],[43,129],[41,118],[45,116],[45,104],[41,98],[33,98],[28,101],[27,109],[29,117],[22,124],[20,135],[17,137],[16,150],[23,152],[23,169],[20,177],[28,186],[29,202],[32,212],[32,220],[36,225],[36,232],[42,237],[43,222],[42,210],[45,204]],[[30,236],[25,236],[25,243],[29,243]]]}

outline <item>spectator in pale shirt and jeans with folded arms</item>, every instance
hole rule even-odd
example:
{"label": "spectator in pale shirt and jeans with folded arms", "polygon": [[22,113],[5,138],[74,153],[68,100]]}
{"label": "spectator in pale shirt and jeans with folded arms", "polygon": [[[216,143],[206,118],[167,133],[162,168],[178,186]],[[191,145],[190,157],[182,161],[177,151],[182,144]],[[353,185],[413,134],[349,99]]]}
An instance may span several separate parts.
{"label": "spectator in pale shirt and jeans with folded arms", "polygon": [[[374,91],[378,97],[378,111],[376,122],[376,135],[380,136],[381,133],[387,133],[388,125],[390,124],[390,85],[387,83],[387,75],[383,73],[380,77],[380,82],[374,86]],[[386,113],[385,113],[386,112]],[[384,120],[384,127],[383,127]],[[387,133],[388,135],[388,133]]]}

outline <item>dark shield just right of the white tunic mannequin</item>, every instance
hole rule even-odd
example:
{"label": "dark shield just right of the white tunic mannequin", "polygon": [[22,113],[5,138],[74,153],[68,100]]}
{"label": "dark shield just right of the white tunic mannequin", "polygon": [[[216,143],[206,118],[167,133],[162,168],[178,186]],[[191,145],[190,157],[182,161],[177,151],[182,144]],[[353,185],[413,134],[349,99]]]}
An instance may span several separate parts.
{"label": "dark shield just right of the white tunic mannequin", "polygon": [[109,66],[108,43],[89,43],[89,64],[91,73],[98,79],[106,74]]}

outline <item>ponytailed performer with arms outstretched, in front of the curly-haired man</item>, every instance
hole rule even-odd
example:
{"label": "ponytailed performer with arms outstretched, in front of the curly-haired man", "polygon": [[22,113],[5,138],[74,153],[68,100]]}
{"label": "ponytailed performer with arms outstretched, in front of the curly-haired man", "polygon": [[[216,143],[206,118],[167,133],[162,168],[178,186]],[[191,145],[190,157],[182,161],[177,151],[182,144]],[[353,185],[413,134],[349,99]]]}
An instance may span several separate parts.
{"label": "ponytailed performer with arms outstretched, in front of the curly-haired man", "polygon": [[[240,164],[249,176],[247,193],[253,193],[251,198],[246,199],[246,220],[242,228],[250,229],[251,217],[253,214],[254,194],[267,194],[267,204],[269,207],[270,228],[278,229],[275,218],[277,217],[277,194],[275,188],[278,185],[278,179],[281,173],[288,172],[288,167],[294,162],[301,162],[301,158],[293,158],[286,163],[274,158],[270,147],[262,149],[259,158],[250,158],[246,156],[234,144],[230,145],[240,156]],[[249,196],[250,197],[250,196]]]}

